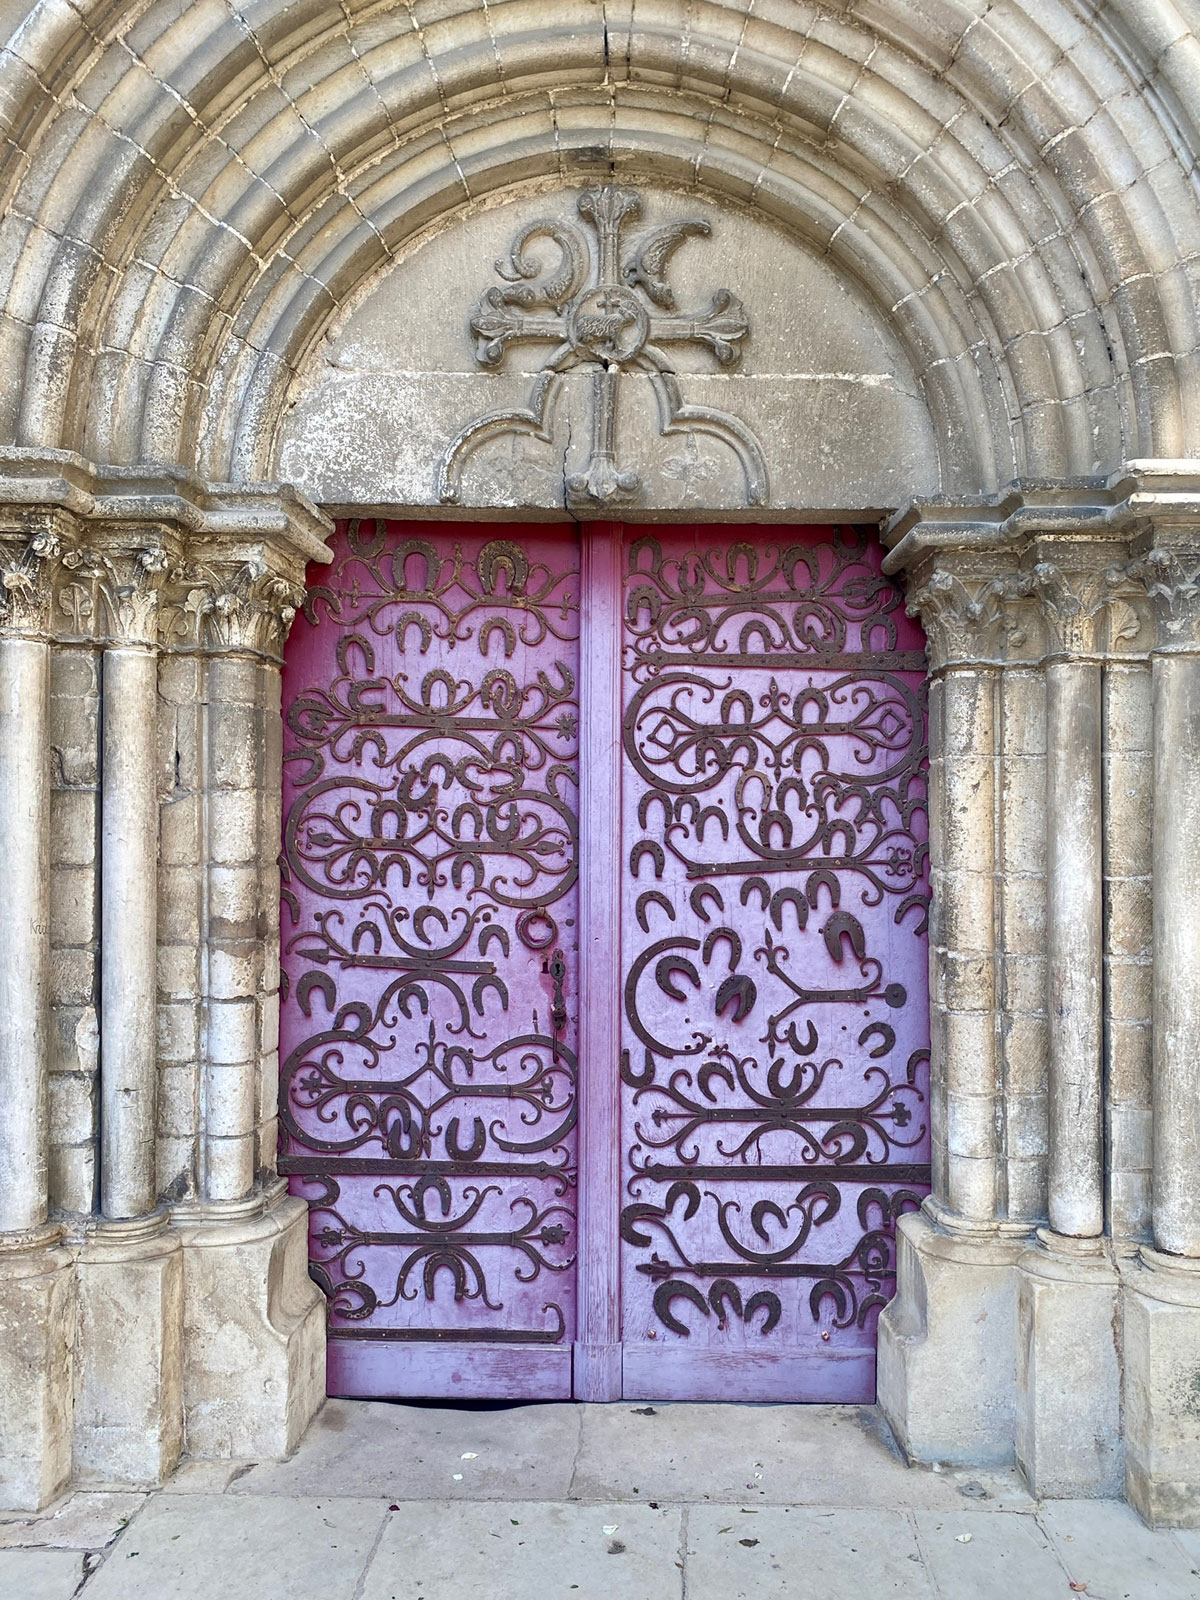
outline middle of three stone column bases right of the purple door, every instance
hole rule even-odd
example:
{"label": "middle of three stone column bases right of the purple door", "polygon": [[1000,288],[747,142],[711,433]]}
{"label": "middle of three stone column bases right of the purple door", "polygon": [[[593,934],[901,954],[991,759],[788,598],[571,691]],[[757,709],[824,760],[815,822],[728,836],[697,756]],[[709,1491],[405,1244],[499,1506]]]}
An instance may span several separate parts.
{"label": "middle of three stone column bases right of the purple door", "polygon": [[1102,1240],[1037,1237],[1018,1262],[1018,1466],[1040,1499],[1120,1499],[1120,1280]]}

